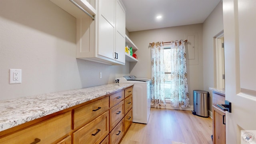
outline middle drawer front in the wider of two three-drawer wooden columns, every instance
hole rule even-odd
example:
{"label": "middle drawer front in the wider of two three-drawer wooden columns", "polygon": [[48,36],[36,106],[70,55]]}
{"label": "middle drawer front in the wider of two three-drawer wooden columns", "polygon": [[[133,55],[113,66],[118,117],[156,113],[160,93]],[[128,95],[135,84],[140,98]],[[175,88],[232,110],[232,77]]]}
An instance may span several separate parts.
{"label": "middle drawer front in the wider of two three-drawer wooden columns", "polygon": [[124,117],[124,101],[120,102],[118,105],[114,106],[109,110],[110,113],[110,131],[120,122],[120,120]]}

